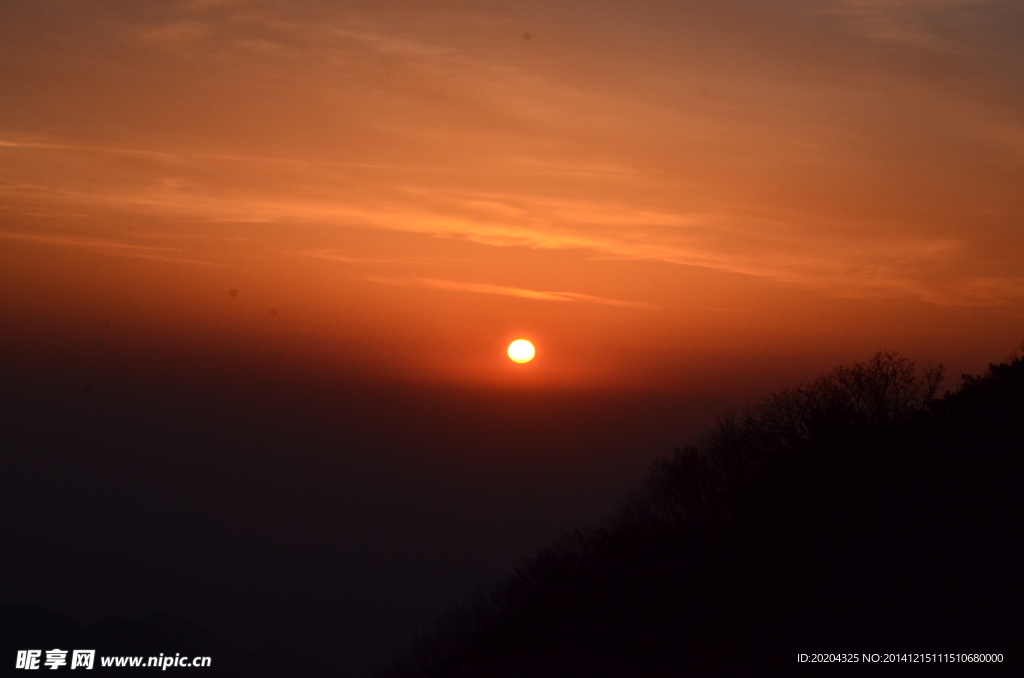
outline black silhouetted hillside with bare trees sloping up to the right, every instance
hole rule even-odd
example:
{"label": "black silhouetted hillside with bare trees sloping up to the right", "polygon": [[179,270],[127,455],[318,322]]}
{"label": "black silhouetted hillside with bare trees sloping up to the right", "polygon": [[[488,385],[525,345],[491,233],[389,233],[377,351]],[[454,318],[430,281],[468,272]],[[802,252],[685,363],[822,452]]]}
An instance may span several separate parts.
{"label": "black silhouetted hillside with bare trees sloping up to the right", "polygon": [[1024,361],[936,399],[940,378],[879,354],[724,418],[389,675],[788,675],[799,652],[1001,652],[895,668],[1018,675]]}

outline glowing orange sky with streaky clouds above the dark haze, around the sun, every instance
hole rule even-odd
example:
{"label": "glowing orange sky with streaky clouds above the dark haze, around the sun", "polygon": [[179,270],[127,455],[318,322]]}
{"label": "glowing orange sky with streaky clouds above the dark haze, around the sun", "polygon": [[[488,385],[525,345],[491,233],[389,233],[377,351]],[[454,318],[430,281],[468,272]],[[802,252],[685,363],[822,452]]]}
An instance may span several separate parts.
{"label": "glowing orange sky with streaky clouds above the dark haze, around the sun", "polygon": [[1024,338],[1022,26],[980,0],[5,3],[3,341],[488,388],[781,386],[878,349],[978,371]]}

